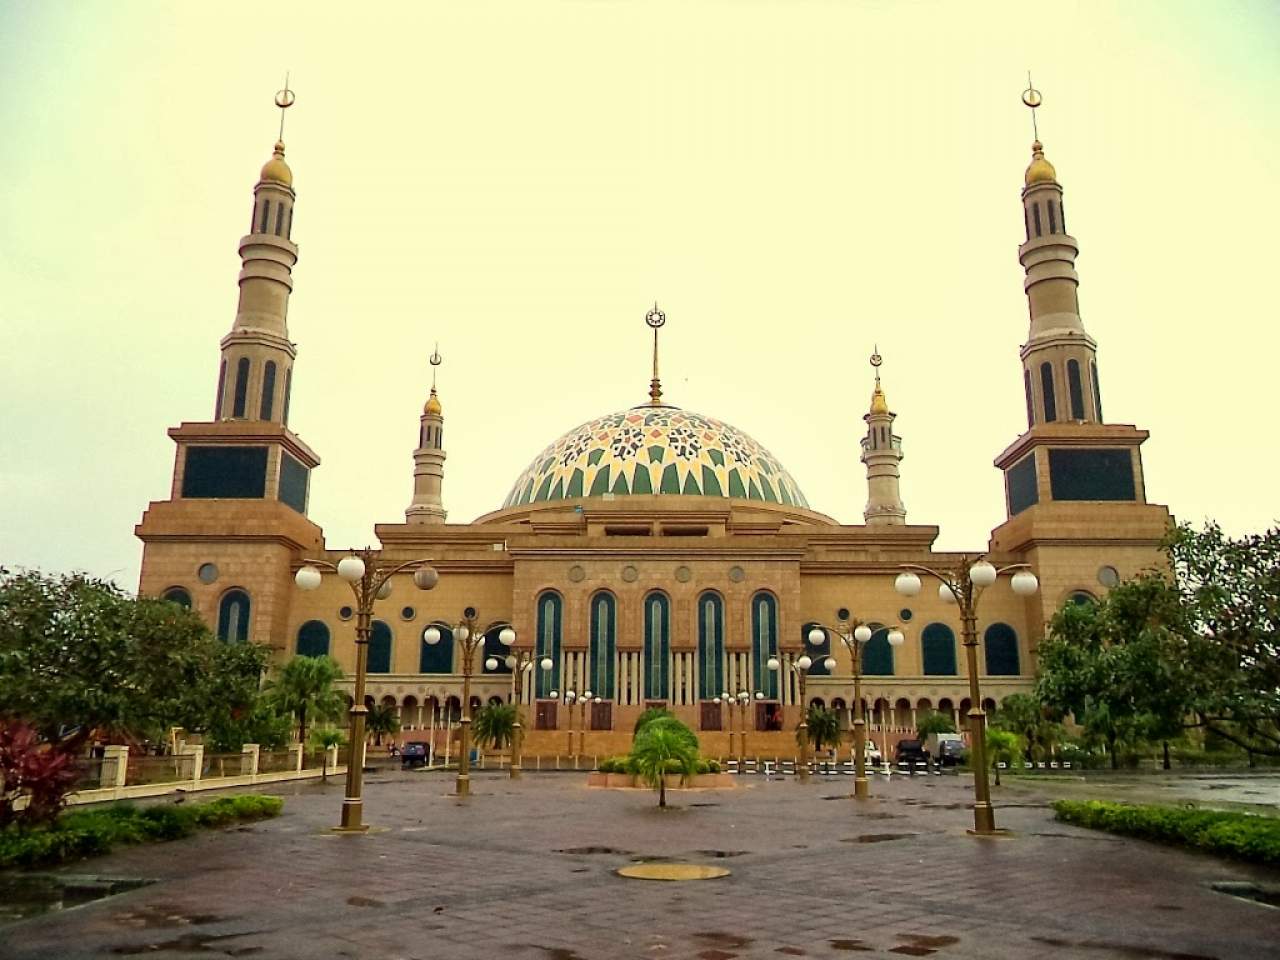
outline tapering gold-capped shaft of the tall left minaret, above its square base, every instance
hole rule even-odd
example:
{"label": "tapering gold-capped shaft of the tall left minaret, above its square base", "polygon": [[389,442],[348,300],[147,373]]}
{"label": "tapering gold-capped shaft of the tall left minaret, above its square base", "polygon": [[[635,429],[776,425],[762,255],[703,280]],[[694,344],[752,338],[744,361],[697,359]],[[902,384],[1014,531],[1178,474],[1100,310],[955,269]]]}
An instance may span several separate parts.
{"label": "tapering gold-capped shaft of the tall left minaret, above its square base", "polygon": [[241,238],[239,306],[221,340],[214,420],[257,420],[288,425],[296,351],[287,317],[298,248],[293,228],[293,172],[284,163],[284,111],[293,104],[285,83],[276,93],[280,138],[253,187],[248,233]]}

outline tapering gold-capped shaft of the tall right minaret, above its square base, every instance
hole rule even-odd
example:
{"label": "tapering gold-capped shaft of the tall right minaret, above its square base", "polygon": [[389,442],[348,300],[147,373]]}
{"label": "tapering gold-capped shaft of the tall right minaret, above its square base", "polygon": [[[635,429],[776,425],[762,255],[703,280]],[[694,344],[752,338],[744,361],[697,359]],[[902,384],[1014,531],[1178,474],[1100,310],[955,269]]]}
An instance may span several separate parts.
{"label": "tapering gold-capped shaft of the tall right minaret, above its square base", "polygon": [[1036,129],[1039,91],[1028,87],[1023,102],[1032,108],[1036,141],[1023,187],[1027,241],[1018,248],[1027,279],[1030,332],[1023,344],[1023,387],[1027,426],[1052,422],[1102,422],[1097,344],[1084,332],[1076,297],[1079,247],[1066,232],[1062,186]]}

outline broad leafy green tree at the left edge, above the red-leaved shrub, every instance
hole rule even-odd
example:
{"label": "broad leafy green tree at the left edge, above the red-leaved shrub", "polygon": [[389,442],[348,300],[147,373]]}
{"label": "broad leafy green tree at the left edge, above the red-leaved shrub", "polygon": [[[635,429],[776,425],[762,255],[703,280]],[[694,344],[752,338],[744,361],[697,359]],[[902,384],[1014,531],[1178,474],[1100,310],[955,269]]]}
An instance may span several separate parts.
{"label": "broad leafy green tree at the left edge, above the red-leaved shrub", "polygon": [[218,641],[168,600],[82,573],[0,568],[0,714],[68,750],[95,735],[207,730],[253,705],[268,655]]}

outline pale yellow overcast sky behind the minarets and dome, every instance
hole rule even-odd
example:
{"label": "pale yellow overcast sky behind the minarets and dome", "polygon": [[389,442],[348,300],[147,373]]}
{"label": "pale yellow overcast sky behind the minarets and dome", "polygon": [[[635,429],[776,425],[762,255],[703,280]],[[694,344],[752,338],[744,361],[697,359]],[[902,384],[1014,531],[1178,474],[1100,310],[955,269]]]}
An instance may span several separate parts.
{"label": "pale yellow overcast sky behind the minarets and dome", "polygon": [[436,339],[444,497],[666,398],[861,522],[878,342],[909,522],[980,549],[1025,426],[1030,119],[1080,242],[1103,408],[1149,499],[1275,521],[1272,3],[0,1],[0,563],[137,584],[182,420],[212,415],[292,72],[292,426],[330,547],[403,517]]}

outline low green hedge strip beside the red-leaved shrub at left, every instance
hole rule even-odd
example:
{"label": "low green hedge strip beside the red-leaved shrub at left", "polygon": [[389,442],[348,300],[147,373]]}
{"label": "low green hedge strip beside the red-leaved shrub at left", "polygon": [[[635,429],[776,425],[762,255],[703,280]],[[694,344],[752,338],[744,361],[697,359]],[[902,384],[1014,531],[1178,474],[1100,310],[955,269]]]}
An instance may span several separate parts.
{"label": "low green hedge strip beside the red-leaved shrub at left", "polygon": [[0,831],[0,868],[38,867],[106,854],[116,844],[178,840],[209,827],[276,817],[278,796],[246,794],[205,803],[138,808],[114,804],[99,810],[64,813],[52,826]]}

